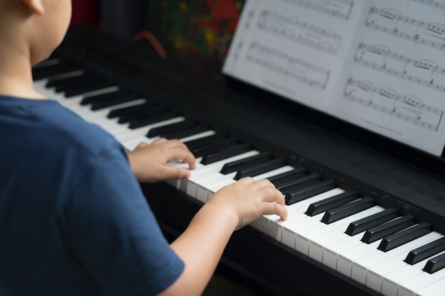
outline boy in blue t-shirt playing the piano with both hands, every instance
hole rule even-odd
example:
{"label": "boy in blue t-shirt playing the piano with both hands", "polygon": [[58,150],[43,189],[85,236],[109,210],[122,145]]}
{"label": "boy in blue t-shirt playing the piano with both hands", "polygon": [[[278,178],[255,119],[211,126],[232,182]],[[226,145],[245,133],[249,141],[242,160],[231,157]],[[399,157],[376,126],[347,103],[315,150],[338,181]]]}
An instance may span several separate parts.
{"label": "boy in blue t-shirt playing the piano with both hands", "polygon": [[[188,177],[195,158],[159,139],[125,153],[33,89],[31,66],[59,45],[70,0],[0,0],[0,295],[200,295],[232,231],[286,219],[267,180],[227,186],[168,245],[139,182]],[[159,197],[162,198],[162,197]]]}

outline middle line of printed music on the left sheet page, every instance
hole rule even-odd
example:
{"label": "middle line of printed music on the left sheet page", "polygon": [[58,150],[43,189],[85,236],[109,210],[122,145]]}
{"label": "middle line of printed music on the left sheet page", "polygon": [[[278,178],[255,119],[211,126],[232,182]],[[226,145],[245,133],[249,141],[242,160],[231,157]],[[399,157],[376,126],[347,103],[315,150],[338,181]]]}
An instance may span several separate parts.
{"label": "middle line of printed music on the left sheet page", "polygon": [[330,28],[319,28],[299,21],[296,16],[284,16],[272,11],[262,11],[258,28],[333,55],[338,53],[341,45],[341,35]]}

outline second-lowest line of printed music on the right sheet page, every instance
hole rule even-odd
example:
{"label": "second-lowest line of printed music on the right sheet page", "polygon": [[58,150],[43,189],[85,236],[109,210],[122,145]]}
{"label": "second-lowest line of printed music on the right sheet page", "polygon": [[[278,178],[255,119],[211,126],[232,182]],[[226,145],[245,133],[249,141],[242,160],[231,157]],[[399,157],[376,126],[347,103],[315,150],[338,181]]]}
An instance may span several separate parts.
{"label": "second-lowest line of printed music on the right sheet page", "polygon": [[445,68],[430,60],[416,60],[392,51],[385,45],[360,43],[354,61],[373,70],[399,77],[412,83],[445,92]]}

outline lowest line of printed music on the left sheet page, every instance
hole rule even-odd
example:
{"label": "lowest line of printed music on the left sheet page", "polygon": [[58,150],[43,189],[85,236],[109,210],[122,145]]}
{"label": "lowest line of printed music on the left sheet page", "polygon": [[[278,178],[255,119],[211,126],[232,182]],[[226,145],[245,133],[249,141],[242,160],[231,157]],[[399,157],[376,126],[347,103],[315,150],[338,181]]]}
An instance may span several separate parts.
{"label": "lowest line of printed music on the left sheet page", "polygon": [[246,60],[267,68],[269,72],[298,80],[310,87],[325,89],[330,71],[288,55],[276,48],[252,43]]}

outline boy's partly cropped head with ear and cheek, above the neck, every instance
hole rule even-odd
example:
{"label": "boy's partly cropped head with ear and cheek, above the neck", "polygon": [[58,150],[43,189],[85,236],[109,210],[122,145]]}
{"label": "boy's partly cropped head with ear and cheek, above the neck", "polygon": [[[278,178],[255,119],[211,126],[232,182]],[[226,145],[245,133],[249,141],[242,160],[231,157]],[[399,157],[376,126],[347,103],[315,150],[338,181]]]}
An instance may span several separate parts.
{"label": "boy's partly cropped head with ear and cheek, above the neck", "polygon": [[0,0],[0,43],[35,65],[63,40],[70,18],[71,0]]}

